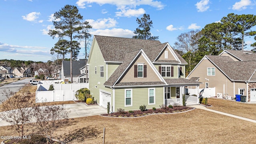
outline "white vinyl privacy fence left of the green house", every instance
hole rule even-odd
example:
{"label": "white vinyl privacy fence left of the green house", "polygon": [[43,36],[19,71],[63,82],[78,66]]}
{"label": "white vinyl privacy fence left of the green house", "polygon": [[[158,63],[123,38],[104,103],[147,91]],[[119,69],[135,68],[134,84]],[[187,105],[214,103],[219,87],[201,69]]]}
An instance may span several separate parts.
{"label": "white vinyl privacy fence left of the green house", "polygon": [[88,88],[88,83],[80,84],[53,84],[54,90],[48,91],[50,84],[38,84],[36,103],[60,102],[77,100],[75,93],[81,88]]}

